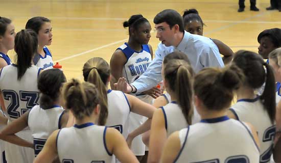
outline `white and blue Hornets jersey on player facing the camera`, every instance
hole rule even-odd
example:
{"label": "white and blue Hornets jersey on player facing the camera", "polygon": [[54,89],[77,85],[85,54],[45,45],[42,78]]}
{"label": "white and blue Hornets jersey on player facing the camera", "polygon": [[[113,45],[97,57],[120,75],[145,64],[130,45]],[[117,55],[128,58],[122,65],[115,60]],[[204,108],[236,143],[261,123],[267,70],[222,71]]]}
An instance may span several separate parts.
{"label": "white and blue Hornets jersey on player facing the camera", "polygon": [[[143,49],[137,52],[132,49],[127,43],[124,43],[118,49],[122,50],[125,57],[127,58],[127,62],[122,70],[122,75],[127,79],[127,82],[129,84],[133,83],[140,75],[142,75],[146,71],[147,67],[152,61],[149,46],[143,45]],[[133,95],[135,95],[139,99],[148,96],[143,93]]]}

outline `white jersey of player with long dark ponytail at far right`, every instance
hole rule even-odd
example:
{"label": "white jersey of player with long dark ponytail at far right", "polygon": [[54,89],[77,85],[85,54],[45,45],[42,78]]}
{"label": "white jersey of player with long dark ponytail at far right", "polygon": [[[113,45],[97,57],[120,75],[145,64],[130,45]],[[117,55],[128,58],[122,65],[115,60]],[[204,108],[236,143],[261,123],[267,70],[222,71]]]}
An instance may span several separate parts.
{"label": "white jersey of player with long dark ponytail at far right", "polygon": [[254,126],[261,144],[260,162],[269,162],[272,154],[275,125],[271,123],[260,98],[240,99],[231,106],[230,111],[238,120],[249,122]]}

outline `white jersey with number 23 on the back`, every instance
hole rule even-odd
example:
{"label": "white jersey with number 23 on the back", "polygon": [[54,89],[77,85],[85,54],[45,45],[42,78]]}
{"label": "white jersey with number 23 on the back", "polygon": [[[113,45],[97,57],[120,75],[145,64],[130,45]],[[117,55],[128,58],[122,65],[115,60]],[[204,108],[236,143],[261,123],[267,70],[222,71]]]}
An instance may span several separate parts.
{"label": "white jersey with number 23 on the back", "polygon": [[0,89],[9,121],[17,119],[26,111],[38,105],[37,78],[41,68],[32,65],[20,80],[17,79],[17,65],[8,65],[0,72]]}

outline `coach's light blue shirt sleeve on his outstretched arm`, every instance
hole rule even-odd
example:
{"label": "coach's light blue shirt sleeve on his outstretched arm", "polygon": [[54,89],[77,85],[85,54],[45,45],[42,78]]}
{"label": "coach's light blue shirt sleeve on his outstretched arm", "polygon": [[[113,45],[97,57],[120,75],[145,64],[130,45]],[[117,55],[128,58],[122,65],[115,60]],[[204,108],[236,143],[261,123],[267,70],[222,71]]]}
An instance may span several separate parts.
{"label": "coach's light blue shirt sleeve on his outstretched arm", "polygon": [[[170,49],[170,50],[169,50]],[[170,53],[171,48],[158,44],[157,50],[155,52],[155,58],[152,60],[150,65],[148,66],[145,73],[139,76],[131,85],[133,85],[136,89],[136,93],[141,93],[155,87],[157,83],[161,82],[161,68],[162,61],[164,57]],[[172,52],[172,51],[171,51]]]}

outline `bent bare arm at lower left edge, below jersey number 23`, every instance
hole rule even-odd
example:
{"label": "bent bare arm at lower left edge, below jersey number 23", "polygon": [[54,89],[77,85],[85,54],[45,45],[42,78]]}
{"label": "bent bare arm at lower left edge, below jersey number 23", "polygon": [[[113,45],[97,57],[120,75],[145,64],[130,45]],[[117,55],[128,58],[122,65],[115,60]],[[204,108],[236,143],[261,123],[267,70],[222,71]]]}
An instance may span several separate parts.
{"label": "bent bare arm at lower left edge, below jersey number 23", "polygon": [[30,143],[24,139],[21,139],[15,133],[23,130],[24,128],[28,127],[28,114],[26,112],[21,117],[15,119],[11,123],[9,123],[1,132],[0,132],[0,139],[16,144],[22,147],[30,147],[33,148],[33,143]]}

